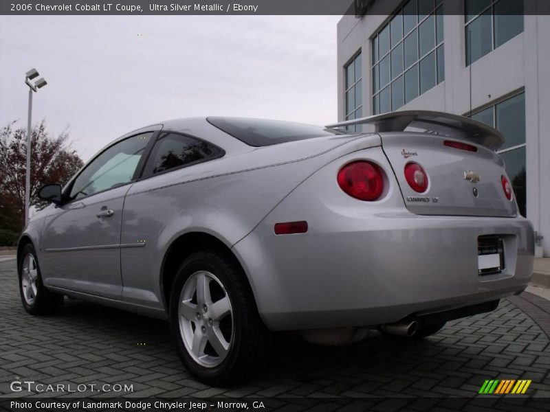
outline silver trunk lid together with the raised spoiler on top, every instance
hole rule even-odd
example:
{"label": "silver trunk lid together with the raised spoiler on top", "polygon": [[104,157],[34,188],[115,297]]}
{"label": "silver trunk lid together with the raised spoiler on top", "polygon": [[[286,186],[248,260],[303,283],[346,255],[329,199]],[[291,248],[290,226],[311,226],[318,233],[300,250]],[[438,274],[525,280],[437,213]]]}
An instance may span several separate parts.
{"label": "silver trunk lid together with the raised spoiler on top", "polygon": [[[511,201],[506,198],[500,181],[506,172],[503,159],[495,152],[504,142],[498,130],[461,115],[423,110],[384,113],[327,127],[355,124],[380,134],[405,205],[413,213],[517,215],[515,197]],[[477,151],[445,146],[445,140],[473,145]],[[410,161],[419,163],[428,174],[429,185],[424,193],[415,192],[406,181],[404,168]]]}

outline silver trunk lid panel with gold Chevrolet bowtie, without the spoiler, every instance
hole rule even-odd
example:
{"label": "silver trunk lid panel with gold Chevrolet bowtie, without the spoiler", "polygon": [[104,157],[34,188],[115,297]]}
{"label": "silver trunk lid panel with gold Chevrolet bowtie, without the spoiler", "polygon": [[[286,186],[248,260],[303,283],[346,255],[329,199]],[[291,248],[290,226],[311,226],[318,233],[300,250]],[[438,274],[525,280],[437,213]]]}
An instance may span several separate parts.
{"label": "silver trunk lid panel with gold Chevrolet bowtie, without the spoiler", "polygon": [[[470,139],[429,133],[380,133],[382,148],[390,161],[409,211],[423,215],[514,217],[514,196],[509,201],[502,187],[504,161],[496,152]],[[475,146],[476,152],[445,146],[458,141]],[[424,193],[412,190],[404,168],[418,163],[428,174]]]}

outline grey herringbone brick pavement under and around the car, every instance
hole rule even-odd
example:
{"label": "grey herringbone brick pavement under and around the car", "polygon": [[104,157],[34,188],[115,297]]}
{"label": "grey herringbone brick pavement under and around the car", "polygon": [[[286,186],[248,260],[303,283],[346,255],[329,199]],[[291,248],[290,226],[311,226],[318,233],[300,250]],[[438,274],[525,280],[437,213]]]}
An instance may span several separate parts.
{"label": "grey herringbone brick pavement under and around the car", "polygon": [[0,396],[14,396],[12,380],[133,384],[135,397],[473,396],[489,378],[531,379],[531,396],[550,396],[543,331],[549,330],[550,306],[530,294],[502,301],[490,314],[450,322],[417,343],[373,332],[362,343],[327,348],[278,336],[259,376],[221,389],[190,377],[164,321],[81,301],[68,301],[54,316],[30,316],[19,300],[14,266],[0,262]]}

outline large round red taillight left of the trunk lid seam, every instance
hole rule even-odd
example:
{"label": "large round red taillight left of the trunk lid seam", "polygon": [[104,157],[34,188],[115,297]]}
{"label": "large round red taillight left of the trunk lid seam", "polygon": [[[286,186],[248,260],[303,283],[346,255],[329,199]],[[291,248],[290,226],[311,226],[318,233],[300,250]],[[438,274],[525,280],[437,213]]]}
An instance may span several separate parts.
{"label": "large round red taillight left of the trunk lid seam", "polygon": [[370,161],[354,161],[338,172],[338,185],[349,196],[360,201],[375,201],[384,190],[379,166]]}

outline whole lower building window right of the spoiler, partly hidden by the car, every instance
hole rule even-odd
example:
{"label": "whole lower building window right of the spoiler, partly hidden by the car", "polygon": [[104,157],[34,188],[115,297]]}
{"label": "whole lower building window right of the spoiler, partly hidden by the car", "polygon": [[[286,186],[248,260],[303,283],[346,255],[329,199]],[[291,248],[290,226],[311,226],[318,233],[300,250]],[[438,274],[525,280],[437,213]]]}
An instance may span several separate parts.
{"label": "whole lower building window right of the spoiler, partly hidden by the car", "polygon": [[527,216],[525,176],[525,93],[514,95],[472,114],[472,119],[500,130],[504,144],[498,154],[514,187],[520,214]]}

